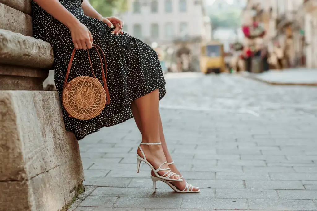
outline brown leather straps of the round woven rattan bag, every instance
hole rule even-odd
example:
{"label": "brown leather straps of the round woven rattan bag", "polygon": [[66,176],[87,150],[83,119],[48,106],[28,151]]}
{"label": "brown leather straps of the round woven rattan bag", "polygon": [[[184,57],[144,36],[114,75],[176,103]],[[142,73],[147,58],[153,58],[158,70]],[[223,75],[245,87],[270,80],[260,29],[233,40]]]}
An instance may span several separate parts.
{"label": "brown leather straps of the round woven rattan bag", "polygon": [[[101,48],[98,45],[95,45],[95,44],[92,44],[92,45],[97,50],[98,56],[100,58],[102,81],[103,81],[104,89],[105,89],[106,96],[107,96],[106,105],[108,105],[108,104],[110,104],[110,93],[109,93],[109,89],[108,89],[108,86],[107,86],[107,62],[106,62],[106,57],[105,57],[104,52],[101,50]],[[102,56],[104,58],[106,74],[105,74],[104,69],[103,69],[103,63],[102,63],[102,58],[101,58],[100,52],[98,51],[96,46],[100,49],[101,54],[102,54]],[[70,68],[72,66],[72,63],[73,63],[73,60],[74,60],[74,57],[75,57],[75,52],[76,52],[76,49],[74,48],[73,53],[72,53],[72,55],[70,57],[70,60],[69,60],[69,63],[68,63],[68,68],[67,68],[67,72],[66,72],[66,77],[65,77],[63,89],[65,88],[65,86],[67,84],[67,81],[68,81],[68,76],[69,76]],[[89,59],[91,71],[93,72],[94,78],[97,79],[96,76],[95,76],[95,73],[94,73],[94,69],[93,69],[93,65],[91,63],[91,59],[90,59],[90,55],[89,55],[89,50],[88,49],[87,49],[87,54],[88,54],[88,59]],[[97,80],[100,81],[99,79],[97,79]]]}

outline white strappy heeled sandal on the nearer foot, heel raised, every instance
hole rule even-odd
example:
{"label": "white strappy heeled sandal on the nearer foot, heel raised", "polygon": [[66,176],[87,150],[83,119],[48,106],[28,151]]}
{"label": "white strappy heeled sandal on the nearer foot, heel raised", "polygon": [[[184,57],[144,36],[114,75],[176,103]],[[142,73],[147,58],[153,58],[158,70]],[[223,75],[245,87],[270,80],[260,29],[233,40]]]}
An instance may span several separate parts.
{"label": "white strappy heeled sandal on the nearer foot, heel raised", "polygon": [[[158,169],[155,169],[152,164],[146,160],[146,157],[145,157],[145,154],[141,148],[141,145],[159,145],[159,144],[162,144],[161,142],[160,143],[140,143],[139,145],[139,149],[143,155],[143,158],[140,157],[139,155],[137,155],[137,160],[138,160],[138,166],[137,166],[137,173],[139,173],[139,169],[140,169],[140,163],[141,161],[145,162],[147,165],[149,165],[153,172],[155,173],[155,176],[156,178],[160,178],[160,179],[163,179],[163,180],[167,180],[167,181],[178,181],[178,182],[182,182],[183,180],[182,179],[171,179],[171,176],[173,175],[177,175],[176,173],[172,172],[170,168],[165,168],[165,169],[161,169],[161,166],[163,166],[166,162],[162,163]],[[162,176],[158,174],[159,171],[166,171],[166,170],[169,170],[167,171],[165,174],[163,174]]]}

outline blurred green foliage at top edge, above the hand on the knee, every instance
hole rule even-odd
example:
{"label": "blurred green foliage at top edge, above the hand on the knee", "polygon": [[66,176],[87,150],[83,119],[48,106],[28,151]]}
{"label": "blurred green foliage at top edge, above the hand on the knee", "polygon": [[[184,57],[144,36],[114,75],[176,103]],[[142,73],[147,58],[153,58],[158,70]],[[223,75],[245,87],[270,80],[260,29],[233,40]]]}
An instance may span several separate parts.
{"label": "blurred green foliage at top edge, above the hand on the knee", "polygon": [[89,0],[89,2],[104,17],[111,16],[114,9],[118,12],[124,12],[128,9],[127,0]]}

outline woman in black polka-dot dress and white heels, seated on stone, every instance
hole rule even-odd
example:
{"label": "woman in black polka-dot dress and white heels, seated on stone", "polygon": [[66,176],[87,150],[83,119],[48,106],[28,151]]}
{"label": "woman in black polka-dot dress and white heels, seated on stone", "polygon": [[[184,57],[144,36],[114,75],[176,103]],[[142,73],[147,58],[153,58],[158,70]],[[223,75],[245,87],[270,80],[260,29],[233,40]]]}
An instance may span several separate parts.
{"label": "woman in black polka-dot dress and white heels, seated on stone", "polygon": [[[198,188],[182,179],[166,146],[159,114],[165,80],[156,52],[124,33],[120,19],[102,17],[88,0],[33,0],[32,21],[34,37],[52,45],[55,85],[60,96],[74,48],[79,51],[75,54],[70,79],[91,74],[85,50],[92,48],[92,42],[106,55],[111,104],[91,120],[70,118],[63,109],[66,129],[81,140],[102,127],[134,117],[142,133],[137,150],[138,169],[139,162],[144,161],[153,170],[153,181],[162,180],[176,191],[198,192]],[[93,64],[98,65],[96,52],[89,52]],[[101,73],[96,76],[101,78]]]}

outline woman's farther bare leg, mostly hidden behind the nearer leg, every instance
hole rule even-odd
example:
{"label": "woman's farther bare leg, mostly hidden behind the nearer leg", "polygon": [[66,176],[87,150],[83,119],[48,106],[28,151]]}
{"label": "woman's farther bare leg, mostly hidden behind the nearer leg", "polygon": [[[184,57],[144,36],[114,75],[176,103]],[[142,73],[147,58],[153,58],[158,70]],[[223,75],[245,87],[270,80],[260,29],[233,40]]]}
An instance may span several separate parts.
{"label": "woman's farther bare leg, mostly hidden behind the nearer leg", "polygon": [[[141,121],[139,118],[139,112],[138,109],[136,108],[136,105],[134,103],[132,103],[132,113],[133,113],[133,117],[134,117],[134,121],[136,123],[136,125],[138,126],[140,132],[142,133],[142,125],[141,125]],[[168,151],[166,142],[165,142],[165,137],[164,137],[164,132],[163,132],[163,126],[162,126],[162,120],[161,120],[161,116],[159,114],[159,136],[160,136],[160,141],[162,142],[162,148],[166,157],[167,162],[171,163],[173,161],[173,159],[171,158],[171,154]],[[175,164],[169,165],[169,167],[171,168],[171,170],[179,175],[180,172],[177,170]],[[155,176],[154,172],[151,172],[152,176]],[[184,190],[185,186],[186,186],[186,181],[183,178],[182,182],[173,182],[173,185],[175,185],[179,190]],[[197,191],[198,188],[197,187],[193,187],[193,191]]]}

